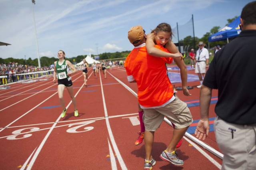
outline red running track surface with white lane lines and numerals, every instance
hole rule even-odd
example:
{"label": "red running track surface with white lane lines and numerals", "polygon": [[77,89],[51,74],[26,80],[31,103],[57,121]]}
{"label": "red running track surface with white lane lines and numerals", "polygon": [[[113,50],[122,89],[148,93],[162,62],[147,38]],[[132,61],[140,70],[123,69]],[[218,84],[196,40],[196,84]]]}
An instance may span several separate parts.
{"label": "red running track surface with white lane lines and numerals", "polygon": [[[26,85],[17,83],[1,91],[0,100],[5,100],[0,105],[0,110],[4,109],[0,111],[0,170],[143,169],[144,143],[134,145],[140,130],[137,98],[116,79],[135,93],[136,84],[128,83],[122,67],[107,71],[111,75],[107,73],[104,79],[102,73],[94,77],[89,70],[87,87],[83,86],[81,71],[72,76],[78,117],[74,117],[74,108],[65,90],[67,115],[60,118],[62,109],[52,78]],[[198,82],[188,85],[196,86]],[[194,88],[190,93],[190,97],[182,92],[178,95],[183,101],[199,99],[199,89]],[[217,91],[213,91],[213,96],[217,96]],[[214,106],[210,107],[210,117],[216,116]],[[199,119],[199,107],[191,107],[190,111],[194,120]],[[220,169],[220,158],[202,149],[208,155],[205,156],[185,139],[177,149],[179,158],[185,161],[184,166],[162,161],[159,155],[167,147],[172,131],[165,122],[156,131],[153,169]],[[218,150],[214,132],[210,132],[205,142]]]}

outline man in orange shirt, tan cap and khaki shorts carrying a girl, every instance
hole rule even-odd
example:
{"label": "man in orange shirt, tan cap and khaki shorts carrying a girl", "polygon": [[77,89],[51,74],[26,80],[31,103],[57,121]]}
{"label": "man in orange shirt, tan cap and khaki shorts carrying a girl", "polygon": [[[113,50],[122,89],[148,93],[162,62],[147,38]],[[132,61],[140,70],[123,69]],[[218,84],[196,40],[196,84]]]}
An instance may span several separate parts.
{"label": "man in orange shirt, tan cap and khaki shorts carrying a girl", "polygon": [[[151,170],[156,163],[151,155],[154,132],[164,120],[164,116],[174,123],[175,129],[170,144],[160,158],[175,165],[183,165],[184,161],[176,155],[175,146],[184,136],[193,119],[186,103],[174,96],[172,84],[166,73],[166,63],[172,63],[173,59],[148,55],[146,35],[141,26],[132,27],[128,32],[128,39],[134,45],[134,49],[126,57],[124,67],[128,81],[137,83],[138,101],[144,109],[143,121],[146,128],[144,169]],[[162,45],[155,47],[169,53]],[[175,61],[179,67],[184,66],[184,61],[180,58]]]}

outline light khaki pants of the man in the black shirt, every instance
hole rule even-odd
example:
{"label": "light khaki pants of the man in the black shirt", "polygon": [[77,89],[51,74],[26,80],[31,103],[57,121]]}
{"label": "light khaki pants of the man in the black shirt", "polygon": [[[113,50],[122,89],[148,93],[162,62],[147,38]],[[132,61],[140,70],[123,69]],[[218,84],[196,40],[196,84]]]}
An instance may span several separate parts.
{"label": "light khaki pants of the man in the black shirt", "polygon": [[224,154],[222,170],[256,170],[256,124],[236,125],[216,117],[214,131]]}

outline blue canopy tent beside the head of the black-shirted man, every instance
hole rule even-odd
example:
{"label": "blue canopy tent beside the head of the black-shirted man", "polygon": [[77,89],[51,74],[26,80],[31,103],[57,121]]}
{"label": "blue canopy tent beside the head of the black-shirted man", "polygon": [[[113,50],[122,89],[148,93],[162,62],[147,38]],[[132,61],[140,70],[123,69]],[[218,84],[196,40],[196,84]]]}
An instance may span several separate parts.
{"label": "blue canopy tent beside the head of the black-shirted man", "polygon": [[238,18],[236,18],[233,22],[228,24],[228,26],[225,26],[220,31],[209,36],[208,42],[216,42],[220,40],[227,40],[228,42],[228,38],[234,38],[240,34],[241,30],[239,24],[240,16],[238,16]]}

